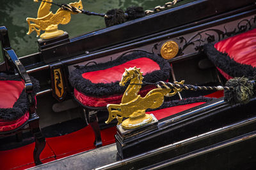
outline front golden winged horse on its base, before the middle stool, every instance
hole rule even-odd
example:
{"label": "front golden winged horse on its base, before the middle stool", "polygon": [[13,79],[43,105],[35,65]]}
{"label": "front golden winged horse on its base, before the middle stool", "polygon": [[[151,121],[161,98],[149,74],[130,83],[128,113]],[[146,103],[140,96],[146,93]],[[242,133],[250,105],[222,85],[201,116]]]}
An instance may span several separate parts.
{"label": "front golden winged horse on its base, before the middle stool", "polygon": [[[141,125],[148,124],[152,121],[152,116],[145,113],[148,108],[155,109],[163,104],[164,96],[174,96],[182,89],[153,89],[148,92],[145,97],[138,95],[141,89],[143,76],[140,68],[130,67],[125,69],[125,72],[120,81],[120,86],[124,86],[127,81],[130,81],[127,89],[122,97],[120,104],[108,104],[109,117],[106,124],[109,124],[114,118],[118,120],[118,124],[122,123],[124,129],[133,129]],[[179,84],[183,84],[180,81]],[[170,93],[173,90],[172,93]],[[129,117],[122,122],[123,117]]]}

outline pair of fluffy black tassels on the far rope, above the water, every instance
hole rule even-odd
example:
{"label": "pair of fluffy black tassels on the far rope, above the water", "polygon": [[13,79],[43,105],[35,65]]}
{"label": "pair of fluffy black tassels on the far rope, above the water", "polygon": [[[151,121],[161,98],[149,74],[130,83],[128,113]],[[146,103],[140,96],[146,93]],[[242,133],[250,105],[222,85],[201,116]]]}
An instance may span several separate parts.
{"label": "pair of fluffy black tassels on the far rope, above the water", "polygon": [[121,9],[109,10],[106,15],[108,16],[105,17],[106,27],[111,27],[129,20],[145,17],[145,11],[141,6],[131,6],[125,12]]}

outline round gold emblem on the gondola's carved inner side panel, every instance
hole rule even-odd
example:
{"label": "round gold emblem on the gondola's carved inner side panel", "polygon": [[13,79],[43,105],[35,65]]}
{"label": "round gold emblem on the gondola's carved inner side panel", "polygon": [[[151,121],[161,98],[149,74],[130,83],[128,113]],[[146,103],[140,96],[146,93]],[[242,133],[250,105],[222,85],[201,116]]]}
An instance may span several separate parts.
{"label": "round gold emblem on the gondola's carved inner side panel", "polygon": [[179,45],[175,41],[166,41],[161,47],[161,55],[164,59],[172,59],[179,52]]}

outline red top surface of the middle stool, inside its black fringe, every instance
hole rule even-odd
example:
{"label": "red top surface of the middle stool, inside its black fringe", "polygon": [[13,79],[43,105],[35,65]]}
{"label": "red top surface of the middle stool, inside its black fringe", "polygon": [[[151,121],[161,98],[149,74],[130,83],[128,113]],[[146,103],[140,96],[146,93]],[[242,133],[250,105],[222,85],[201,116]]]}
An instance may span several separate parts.
{"label": "red top surface of the middle stool, inside its black fringe", "polygon": [[118,66],[110,67],[108,69],[83,73],[82,76],[83,78],[91,80],[92,83],[111,83],[120,81],[122,74],[124,73],[124,69],[129,69],[129,67],[134,66],[141,68],[143,75],[160,69],[159,65],[154,60],[141,57],[139,59],[130,60]]}

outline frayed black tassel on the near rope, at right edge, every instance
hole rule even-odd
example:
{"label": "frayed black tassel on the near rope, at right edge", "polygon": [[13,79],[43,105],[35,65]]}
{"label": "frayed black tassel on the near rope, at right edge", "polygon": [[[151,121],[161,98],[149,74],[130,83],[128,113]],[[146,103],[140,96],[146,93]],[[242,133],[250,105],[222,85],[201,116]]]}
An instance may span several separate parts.
{"label": "frayed black tassel on the near rope, at right edge", "polygon": [[226,86],[234,87],[232,90],[225,90],[224,100],[230,104],[246,104],[254,95],[254,83],[248,78],[232,78],[227,81]]}

